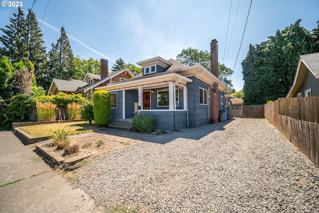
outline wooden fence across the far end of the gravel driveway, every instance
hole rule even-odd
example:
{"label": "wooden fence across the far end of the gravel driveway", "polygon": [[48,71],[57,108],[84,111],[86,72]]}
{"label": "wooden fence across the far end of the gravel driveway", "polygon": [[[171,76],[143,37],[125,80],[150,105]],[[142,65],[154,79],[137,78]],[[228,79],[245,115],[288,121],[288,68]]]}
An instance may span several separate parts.
{"label": "wooden fence across the far end of the gravel driveway", "polygon": [[264,105],[232,106],[232,117],[239,118],[265,118]]}

